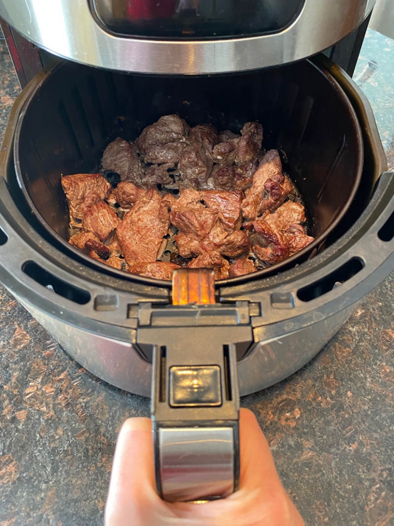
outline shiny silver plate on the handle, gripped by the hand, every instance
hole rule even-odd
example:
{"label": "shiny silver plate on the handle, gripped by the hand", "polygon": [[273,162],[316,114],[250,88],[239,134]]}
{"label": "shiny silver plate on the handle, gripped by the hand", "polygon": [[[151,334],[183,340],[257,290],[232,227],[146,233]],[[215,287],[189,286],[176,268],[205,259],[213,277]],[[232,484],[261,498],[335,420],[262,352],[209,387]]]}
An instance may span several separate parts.
{"label": "shiny silver plate on the handle, gripped by the hand", "polygon": [[226,497],[234,489],[233,428],[159,430],[160,476],[167,501]]}

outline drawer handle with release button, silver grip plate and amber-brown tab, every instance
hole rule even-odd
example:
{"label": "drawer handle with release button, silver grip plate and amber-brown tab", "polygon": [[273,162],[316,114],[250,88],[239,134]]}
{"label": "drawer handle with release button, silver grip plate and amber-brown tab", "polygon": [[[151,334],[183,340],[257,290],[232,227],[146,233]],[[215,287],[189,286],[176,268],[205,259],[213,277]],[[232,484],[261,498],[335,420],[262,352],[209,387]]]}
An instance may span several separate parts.
{"label": "drawer handle with release button, silver grip plate and amber-brown tab", "polygon": [[[214,303],[213,271],[180,269],[173,304]],[[153,352],[155,478],[168,501],[227,497],[239,481],[239,391],[229,327],[159,329]],[[230,339],[230,341],[228,341]]]}

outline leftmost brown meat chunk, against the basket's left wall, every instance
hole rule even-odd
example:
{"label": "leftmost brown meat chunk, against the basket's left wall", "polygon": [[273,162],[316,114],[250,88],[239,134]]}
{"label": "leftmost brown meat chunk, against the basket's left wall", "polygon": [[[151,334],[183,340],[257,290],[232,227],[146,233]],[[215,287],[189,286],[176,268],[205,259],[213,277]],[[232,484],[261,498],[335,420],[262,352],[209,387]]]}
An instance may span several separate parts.
{"label": "leftmost brown meat chunk, against the basket's left wall", "polygon": [[61,178],[70,214],[82,219],[92,205],[111,193],[111,185],[100,174],[65,175]]}

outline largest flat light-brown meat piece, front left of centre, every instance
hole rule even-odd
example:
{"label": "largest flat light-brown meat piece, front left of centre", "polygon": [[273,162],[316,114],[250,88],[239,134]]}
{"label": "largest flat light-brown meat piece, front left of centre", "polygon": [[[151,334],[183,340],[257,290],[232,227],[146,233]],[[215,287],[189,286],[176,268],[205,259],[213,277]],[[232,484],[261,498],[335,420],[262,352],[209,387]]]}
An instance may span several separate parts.
{"label": "largest flat light-brown meat piece, front left of centre", "polygon": [[169,227],[169,201],[147,190],[123,218],[116,230],[122,253],[129,265],[153,262]]}

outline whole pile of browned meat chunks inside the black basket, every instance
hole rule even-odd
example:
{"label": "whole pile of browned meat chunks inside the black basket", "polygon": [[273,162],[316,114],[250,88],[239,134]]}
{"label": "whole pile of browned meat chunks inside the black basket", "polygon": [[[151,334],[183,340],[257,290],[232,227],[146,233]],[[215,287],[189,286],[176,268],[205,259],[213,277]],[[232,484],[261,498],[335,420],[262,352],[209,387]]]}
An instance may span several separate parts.
{"label": "whole pile of browned meat chunks inside the black basket", "polygon": [[62,177],[71,245],[120,270],[170,280],[180,266],[241,276],[307,246],[305,209],[263,128],[218,134],[166,115],[117,138],[100,174]]}

